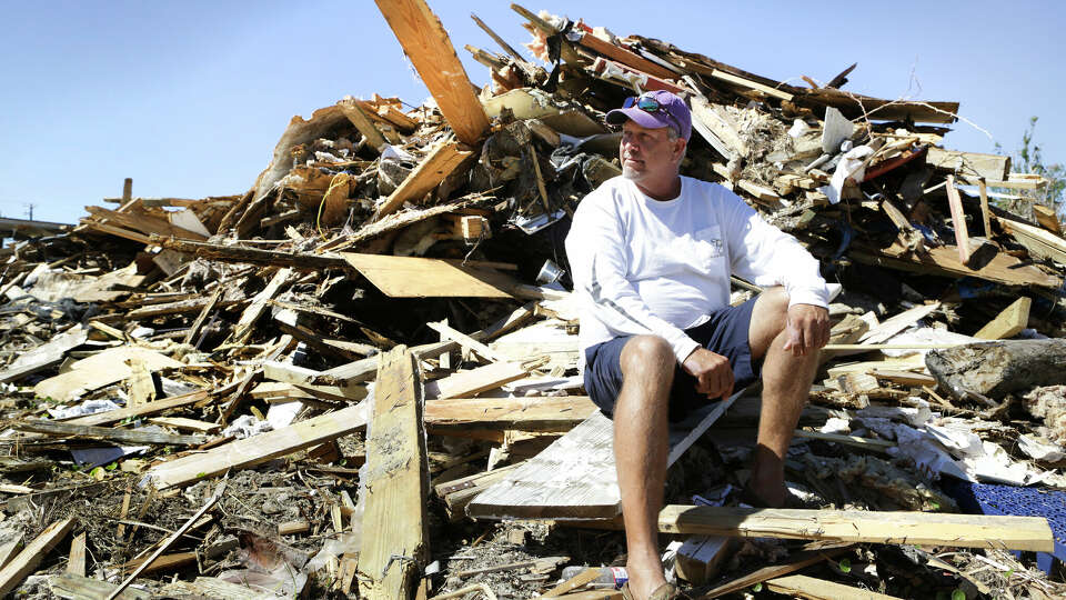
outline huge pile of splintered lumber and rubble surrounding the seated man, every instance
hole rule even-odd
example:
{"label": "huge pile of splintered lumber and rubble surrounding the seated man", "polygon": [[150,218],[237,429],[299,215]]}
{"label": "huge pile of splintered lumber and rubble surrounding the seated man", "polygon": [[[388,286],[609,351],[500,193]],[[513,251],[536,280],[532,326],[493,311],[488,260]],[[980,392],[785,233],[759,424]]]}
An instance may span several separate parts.
{"label": "huge pile of splintered lumber and rubble surrounding the seated man", "polygon": [[712,403],[672,432],[672,577],[1066,593],[1066,240],[1016,202],[1046,181],[942,147],[958,103],[844,91],[851,69],[796,88],[517,6],[543,63],[477,20],[503,49],[466,47],[477,93],[423,2],[380,4],[431,104],[345,98],[293,118],[242,196],[127,180],[118,208],[2,249],[0,593],[620,597],[561,573],[624,563],[562,239],[621,173],[605,111],[656,89],[692,107],[683,174],[843,287],[787,464],[812,508],[737,506],[758,389]]}

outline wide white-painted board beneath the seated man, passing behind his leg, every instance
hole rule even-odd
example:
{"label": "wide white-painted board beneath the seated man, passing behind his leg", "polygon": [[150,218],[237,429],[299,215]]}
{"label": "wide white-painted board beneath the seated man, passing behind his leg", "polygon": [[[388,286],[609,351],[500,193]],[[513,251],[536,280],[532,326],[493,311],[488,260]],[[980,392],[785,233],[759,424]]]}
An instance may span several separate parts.
{"label": "wide white-painted board beneath the seated man, passing behind his leg", "polygon": [[[672,423],[667,463],[673,464],[743,391],[711,402]],[[621,513],[614,466],[614,427],[596,412],[474,498],[466,508],[487,519],[610,519]]]}

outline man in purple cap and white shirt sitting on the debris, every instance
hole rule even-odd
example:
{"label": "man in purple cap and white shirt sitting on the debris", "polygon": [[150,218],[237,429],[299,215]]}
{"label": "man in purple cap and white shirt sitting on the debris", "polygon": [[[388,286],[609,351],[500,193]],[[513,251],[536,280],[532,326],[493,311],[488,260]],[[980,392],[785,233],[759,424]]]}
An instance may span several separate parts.
{"label": "man in purple cap and white shirt sitting on the debris", "polygon": [[[607,113],[622,126],[622,177],[582,200],[566,238],[582,297],[585,388],[613,414],[627,546],[626,598],[676,596],[663,577],[657,517],[667,420],[763,380],[748,502],[782,507],[784,458],[828,340],[818,262],[725,188],[678,174],[692,133],[666,91]],[[730,307],[730,276],[763,288]]]}

